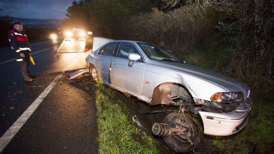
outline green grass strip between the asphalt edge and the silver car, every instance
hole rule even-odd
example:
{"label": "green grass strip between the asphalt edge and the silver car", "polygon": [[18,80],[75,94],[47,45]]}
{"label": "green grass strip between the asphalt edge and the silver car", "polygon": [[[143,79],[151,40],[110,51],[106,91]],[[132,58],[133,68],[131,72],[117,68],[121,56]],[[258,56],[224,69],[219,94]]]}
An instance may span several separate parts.
{"label": "green grass strip between the asphalt edge and the silver car", "polygon": [[129,120],[126,109],[113,102],[115,91],[101,82],[97,82],[96,86],[99,153],[158,153],[153,140],[143,136]]}

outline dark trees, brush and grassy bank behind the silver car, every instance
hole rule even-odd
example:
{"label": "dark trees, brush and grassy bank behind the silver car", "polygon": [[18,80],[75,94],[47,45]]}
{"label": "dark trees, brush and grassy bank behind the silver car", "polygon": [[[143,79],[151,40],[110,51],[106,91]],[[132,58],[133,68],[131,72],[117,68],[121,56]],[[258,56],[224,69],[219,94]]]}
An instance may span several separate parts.
{"label": "dark trees, brush and grassy bank behind the silver car", "polygon": [[102,0],[75,2],[94,36],[159,44],[187,63],[235,77],[251,87],[247,126],[228,137],[207,136],[222,153],[274,151],[274,2],[272,0]]}

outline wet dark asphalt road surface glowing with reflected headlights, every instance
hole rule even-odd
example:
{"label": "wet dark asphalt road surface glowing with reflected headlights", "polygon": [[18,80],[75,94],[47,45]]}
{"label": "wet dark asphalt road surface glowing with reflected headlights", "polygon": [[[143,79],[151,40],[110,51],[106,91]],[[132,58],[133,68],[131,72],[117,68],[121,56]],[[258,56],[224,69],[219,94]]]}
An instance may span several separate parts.
{"label": "wet dark asphalt road surface glowing with reflected headlights", "polygon": [[98,153],[94,87],[83,91],[68,81],[72,70],[85,68],[88,53],[56,54],[61,42],[31,44],[35,65],[29,70],[38,75],[33,82],[24,81],[15,53],[0,48],[3,154]]}

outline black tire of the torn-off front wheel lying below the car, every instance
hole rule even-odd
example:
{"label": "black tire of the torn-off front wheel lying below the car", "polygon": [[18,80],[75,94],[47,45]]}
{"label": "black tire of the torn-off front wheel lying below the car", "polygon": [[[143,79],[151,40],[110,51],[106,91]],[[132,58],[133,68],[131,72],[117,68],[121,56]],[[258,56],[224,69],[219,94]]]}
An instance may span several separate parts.
{"label": "black tire of the torn-off front wheel lying below the car", "polygon": [[[177,115],[178,115],[178,113],[175,113],[175,112],[168,114],[165,117],[165,119],[163,119],[163,124],[168,124],[170,127],[172,127],[172,125],[173,125],[172,123],[175,119],[177,119]],[[190,124],[192,127],[191,141],[193,142],[193,145],[190,142],[188,142],[186,139],[181,138],[179,135],[175,135],[173,132],[171,133],[171,135],[163,137],[163,140],[166,143],[166,145],[178,153],[191,152],[200,143],[200,133],[199,133],[199,130],[198,130],[196,124],[190,117],[188,117],[187,115],[185,115],[185,116],[186,116],[188,124]],[[179,114],[178,118],[181,121],[185,121],[182,114]],[[173,125],[173,127],[174,127],[174,125]],[[194,133],[194,135],[193,135],[193,133]]]}

